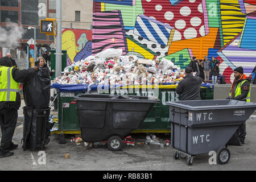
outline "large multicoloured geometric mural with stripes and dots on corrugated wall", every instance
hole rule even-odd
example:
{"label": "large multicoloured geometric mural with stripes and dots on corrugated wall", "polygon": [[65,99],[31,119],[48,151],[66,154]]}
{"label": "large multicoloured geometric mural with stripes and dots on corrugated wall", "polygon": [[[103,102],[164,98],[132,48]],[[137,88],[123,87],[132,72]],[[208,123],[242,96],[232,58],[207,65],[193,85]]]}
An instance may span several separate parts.
{"label": "large multicoloured geometric mural with stripes and dots on corrugated wall", "polygon": [[[256,3],[251,0],[118,0],[93,2],[92,54],[122,48],[181,68],[191,56],[220,60],[220,74],[247,76],[256,64]],[[75,51],[74,51],[75,52]]]}

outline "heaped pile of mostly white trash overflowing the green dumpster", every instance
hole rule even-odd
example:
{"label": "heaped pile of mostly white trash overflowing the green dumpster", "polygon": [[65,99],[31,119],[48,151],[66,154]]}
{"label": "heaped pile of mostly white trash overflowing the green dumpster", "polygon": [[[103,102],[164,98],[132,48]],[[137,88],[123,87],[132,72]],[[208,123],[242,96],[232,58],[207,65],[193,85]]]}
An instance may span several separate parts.
{"label": "heaped pile of mostly white trash overflowing the green dumpster", "polygon": [[122,49],[109,48],[64,68],[55,82],[62,85],[146,85],[175,83],[182,77],[184,70],[170,60],[138,59],[135,55],[122,55]]}

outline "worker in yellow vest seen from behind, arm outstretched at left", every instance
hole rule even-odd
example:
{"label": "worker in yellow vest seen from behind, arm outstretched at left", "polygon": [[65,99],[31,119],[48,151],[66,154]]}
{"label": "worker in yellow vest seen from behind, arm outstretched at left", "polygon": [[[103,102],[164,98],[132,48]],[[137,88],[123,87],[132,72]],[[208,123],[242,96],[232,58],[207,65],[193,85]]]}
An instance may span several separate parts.
{"label": "worker in yellow vest seen from behind, arm outstretched at left", "polygon": [[10,150],[18,147],[12,139],[20,107],[19,82],[27,81],[38,71],[38,67],[19,70],[12,65],[9,57],[0,59],[0,158],[14,155]]}

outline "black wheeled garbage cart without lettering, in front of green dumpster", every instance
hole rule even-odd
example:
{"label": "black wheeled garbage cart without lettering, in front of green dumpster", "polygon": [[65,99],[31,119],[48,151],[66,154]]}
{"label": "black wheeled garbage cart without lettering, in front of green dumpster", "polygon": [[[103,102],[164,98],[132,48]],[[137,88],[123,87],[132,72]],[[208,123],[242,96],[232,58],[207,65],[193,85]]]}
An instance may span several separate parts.
{"label": "black wheeled garbage cart without lettering, in front of green dumpster", "polygon": [[138,129],[155,103],[156,97],[79,94],[74,97],[82,139],[108,140],[109,150],[122,149],[122,138]]}

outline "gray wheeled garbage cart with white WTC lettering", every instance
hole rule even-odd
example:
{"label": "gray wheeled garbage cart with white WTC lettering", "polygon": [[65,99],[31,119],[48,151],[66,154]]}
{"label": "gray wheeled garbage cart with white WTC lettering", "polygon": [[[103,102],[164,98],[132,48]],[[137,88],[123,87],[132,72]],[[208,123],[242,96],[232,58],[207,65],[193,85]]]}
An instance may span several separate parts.
{"label": "gray wheeled garbage cart with white WTC lettering", "polygon": [[236,100],[175,101],[167,105],[170,105],[171,146],[176,149],[174,158],[184,154],[189,166],[195,155],[210,151],[216,151],[218,163],[228,163],[229,139],[256,109],[253,102]]}

